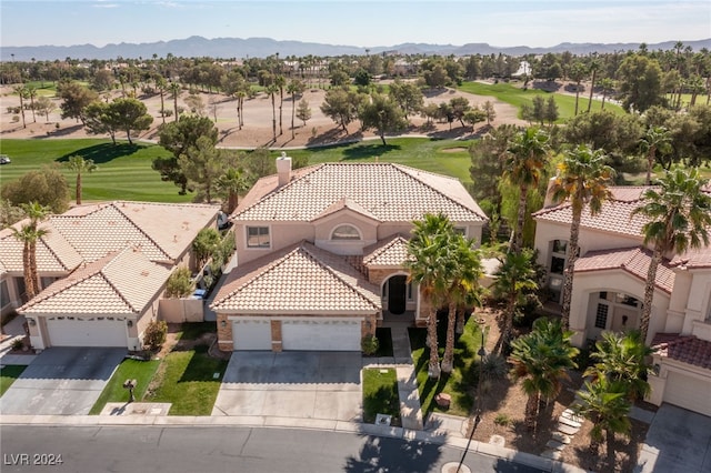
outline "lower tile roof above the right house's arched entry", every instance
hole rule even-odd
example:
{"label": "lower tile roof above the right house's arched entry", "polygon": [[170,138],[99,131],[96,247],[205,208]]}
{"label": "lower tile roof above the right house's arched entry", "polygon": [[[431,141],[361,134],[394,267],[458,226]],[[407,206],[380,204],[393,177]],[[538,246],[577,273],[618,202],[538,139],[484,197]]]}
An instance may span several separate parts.
{"label": "lower tile roof above the right house's arched entry", "polygon": [[[575,261],[575,273],[622,270],[633,276],[647,280],[647,271],[652,260],[652,252],[643,248],[624,248],[613,250],[589,251]],[[661,291],[671,294],[674,288],[674,272],[664,260],[657,270],[655,284]]]}

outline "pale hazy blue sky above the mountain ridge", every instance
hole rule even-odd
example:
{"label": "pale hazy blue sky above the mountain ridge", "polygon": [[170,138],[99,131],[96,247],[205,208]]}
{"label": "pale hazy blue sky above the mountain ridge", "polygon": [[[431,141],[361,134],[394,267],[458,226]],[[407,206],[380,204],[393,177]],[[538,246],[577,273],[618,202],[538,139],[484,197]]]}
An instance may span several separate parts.
{"label": "pale hazy blue sky above the mountain ridge", "polygon": [[2,46],[273,38],[359,47],[427,42],[550,47],[561,42],[711,38],[702,1],[1,0]]}

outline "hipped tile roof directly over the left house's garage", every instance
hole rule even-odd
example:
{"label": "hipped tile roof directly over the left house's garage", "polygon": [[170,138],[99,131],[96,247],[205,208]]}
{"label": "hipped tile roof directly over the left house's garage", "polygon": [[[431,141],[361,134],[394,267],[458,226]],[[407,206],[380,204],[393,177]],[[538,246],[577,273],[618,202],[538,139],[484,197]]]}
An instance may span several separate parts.
{"label": "hipped tile roof directly over the left house's garage", "polygon": [[170,270],[138,248],[126,248],[56,281],[18,310],[24,314],[142,313]]}

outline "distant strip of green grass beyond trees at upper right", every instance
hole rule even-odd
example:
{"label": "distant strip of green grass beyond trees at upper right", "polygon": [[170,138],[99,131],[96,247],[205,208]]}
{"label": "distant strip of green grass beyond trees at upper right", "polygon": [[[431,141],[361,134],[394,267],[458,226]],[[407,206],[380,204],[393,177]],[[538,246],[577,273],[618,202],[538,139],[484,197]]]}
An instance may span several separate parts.
{"label": "distant strip of green grass beyond trees at upper right", "polygon": [[[521,105],[524,103],[532,104],[533,97],[535,95],[543,95],[548,100],[548,97],[550,97],[551,94],[550,92],[545,92],[539,89],[529,88],[528,90],[523,90],[519,87],[514,87],[510,83],[504,83],[504,82],[500,82],[495,84],[481,83],[481,82],[464,82],[461,85],[459,85],[458,89],[463,92],[474,93],[477,95],[494,97],[501,100],[502,102],[512,104],[518,109],[521,109]],[[582,92],[580,94],[580,99],[578,101],[579,112],[588,110],[589,93],[590,92]],[[553,93],[553,97],[554,97],[555,103],[558,104],[558,112],[560,114],[560,118],[557,121],[557,123],[563,123],[567,119],[573,117],[575,113],[575,97],[562,94],[562,93]],[[601,105],[602,105],[602,101],[593,99],[592,101],[593,111],[600,110]],[[604,103],[604,109],[610,110],[614,113],[620,113],[620,114],[624,113],[624,110],[622,110],[621,107],[615,105],[614,103],[610,103],[608,101],[605,101]]]}

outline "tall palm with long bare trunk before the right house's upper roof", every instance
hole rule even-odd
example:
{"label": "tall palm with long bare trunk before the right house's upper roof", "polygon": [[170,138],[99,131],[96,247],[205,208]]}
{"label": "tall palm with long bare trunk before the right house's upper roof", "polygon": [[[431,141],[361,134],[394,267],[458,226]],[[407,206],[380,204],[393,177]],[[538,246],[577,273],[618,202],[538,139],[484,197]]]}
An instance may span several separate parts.
{"label": "tall palm with long bare trunk before the right house's upper roof", "polygon": [[569,199],[572,208],[561,308],[565,330],[570,324],[570,301],[573,293],[575,260],[578,260],[578,236],[582,208],[588,204],[590,215],[595,215],[600,212],[602,202],[611,195],[608,183],[612,181],[615,172],[614,169],[605,164],[607,159],[604,150],[593,151],[587,144],[567,151],[563,162],[558,167],[559,174],[551,189],[557,201]]}

